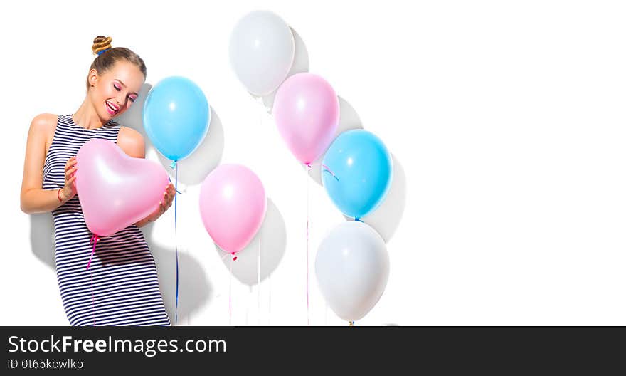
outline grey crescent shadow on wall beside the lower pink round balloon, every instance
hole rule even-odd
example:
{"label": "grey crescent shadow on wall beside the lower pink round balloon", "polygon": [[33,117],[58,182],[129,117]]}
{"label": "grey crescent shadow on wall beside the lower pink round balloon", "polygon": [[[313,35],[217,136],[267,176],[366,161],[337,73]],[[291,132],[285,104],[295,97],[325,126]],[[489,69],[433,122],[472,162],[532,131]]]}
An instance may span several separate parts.
{"label": "grey crescent shadow on wall beside the lower pink round balloon", "polygon": [[[260,266],[259,239],[261,243]],[[276,204],[271,199],[267,199],[267,211],[263,224],[250,244],[236,254],[237,260],[233,261],[233,257],[226,254],[219,246],[216,246],[216,250],[228,271],[230,271],[230,263],[233,263],[233,276],[235,278],[241,283],[253,286],[258,283],[259,279],[260,281],[265,280],[276,270],[285,254],[286,246],[285,219],[282,218]]]}

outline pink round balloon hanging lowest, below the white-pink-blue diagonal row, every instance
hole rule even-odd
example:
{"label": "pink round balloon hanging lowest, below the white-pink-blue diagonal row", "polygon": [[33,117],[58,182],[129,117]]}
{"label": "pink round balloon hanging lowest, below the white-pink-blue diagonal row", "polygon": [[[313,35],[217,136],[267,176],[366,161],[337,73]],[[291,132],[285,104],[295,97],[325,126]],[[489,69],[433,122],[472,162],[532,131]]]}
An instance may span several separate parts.
{"label": "pink round balloon hanging lowest, below the white-pink-blue diagonal row", "polygon": [[265,219],[265,189],[257,175],[240,164],[222,164],[200,187],[200,214],[216,244],[235,254],[250,243]]}

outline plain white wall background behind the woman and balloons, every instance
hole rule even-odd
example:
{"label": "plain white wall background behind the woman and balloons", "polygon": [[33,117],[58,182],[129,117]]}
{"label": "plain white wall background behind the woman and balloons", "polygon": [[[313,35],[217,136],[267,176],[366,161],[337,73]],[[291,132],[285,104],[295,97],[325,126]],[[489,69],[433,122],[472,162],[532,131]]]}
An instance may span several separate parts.
{"label": "plain white wall background behind the woman and balloons", "polygon": [[[621,2],[137,3],[17,1],[0,16],[2,325],[68,324],[51,217],[23,214],[19,190],[31,119],[78,109],[99,34],[144,58],[147,83],[184,75],[206,93],[218,122],[206,162],[188,171],[245,164],[272,202],[262,252],[282,257],[259,289],[230,280],[201,224],[197,185],[179,196],[179,324],[306,325],[308,178],[228,61],[230,31],[255,9],[297,32],[308,71],[329,80],[342,116],[381,137],[401,172],[373,216],[388,237],[388,285],[357,325],[626,324]],[[344,217],[308,184],[313,260]],[[144,231],[173,320],[173,208]],[[314,276],[310,323],[346,324]]]}

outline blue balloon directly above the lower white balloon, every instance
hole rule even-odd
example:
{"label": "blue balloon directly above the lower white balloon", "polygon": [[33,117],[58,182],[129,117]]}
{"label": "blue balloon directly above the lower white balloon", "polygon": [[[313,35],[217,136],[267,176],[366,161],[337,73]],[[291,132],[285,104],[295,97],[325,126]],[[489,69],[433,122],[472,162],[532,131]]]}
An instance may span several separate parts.
{"label": "blue balloon directly above the lower white balloon", "polygon": [[341,133],[323,163],[328,167],[322,172],[326,192],[342,213],[354,219],[376,209],[391,186],[391,155],[381,139],[366,130]]}

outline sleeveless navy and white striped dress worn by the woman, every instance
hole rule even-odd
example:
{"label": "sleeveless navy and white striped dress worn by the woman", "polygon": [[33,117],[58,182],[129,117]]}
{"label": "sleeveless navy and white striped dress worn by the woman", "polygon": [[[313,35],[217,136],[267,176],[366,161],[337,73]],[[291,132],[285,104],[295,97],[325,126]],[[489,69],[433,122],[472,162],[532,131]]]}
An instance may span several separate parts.
{"label": "sleeveless navy and white striped dress worn by the woman", "polygon": [[[95,130],[58,115],[43,166],[43,189],[65,184],[65,163],[92,138],[117,143],[120,125],[112,120]],[[92,245],[78,194],[52,211],[56,273],[70,325],[170,325],[159,291],[157,265],[142,231],[131,225]]]}

